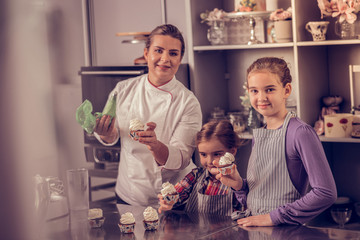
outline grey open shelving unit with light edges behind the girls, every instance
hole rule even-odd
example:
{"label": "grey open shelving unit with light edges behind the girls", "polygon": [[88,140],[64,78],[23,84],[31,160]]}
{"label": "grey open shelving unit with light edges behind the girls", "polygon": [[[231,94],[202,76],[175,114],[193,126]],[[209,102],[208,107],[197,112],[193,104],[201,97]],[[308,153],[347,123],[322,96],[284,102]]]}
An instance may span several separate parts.
{"label": "grey open shelving unit with light edges behind the girls", "polygon": [[[309,21],[320,21],[320,10],[315,0],[279,0],[278,7],[293,9],[293,41],[287,43],[264,43],[255,45],[210,45],[206,38],[208,26],[201,23],[200,13],[214,8],[230,12],[234,9],[233,0],[186,0],[187,48],[190,67],[191,89],[198,97],[204,121],[210,117],[214,107],[225,111],[241,111],[239,96],[244,95],[243,84],[246,69],[259,57],[276,56],[284,58],[293,77],[293,93],[290,106],[297,115],[313,126],[321,111],[321,98],[327,95],[340,95],[344,98],[342,112],[350,112],[349,65],[360,64],[360,40],[341,40],[334,32],[335,19],[330,21],[327,40],[312,41],[305,30]],[[359,21],[359,20],[358,20]],[[359,34],[359,32],[358,32]],[[356,93],[359,93],[359,87]],[[355,94],[356,95],[356,94]],[[359,101],[359,99],[358,99]],[[356,105],[359,105],[356,102]],[[360,139],[326,138],[321,136],[330,165],[338,182],[360,183]],[[344,159],[346,157],[346,159]],[[335,165],[341,169],[355,167],[351,181],[346,174],[338,174]],[[339,168],[338,168],[339,169]],[[344,178],[344,179],[342,179]],[[338,183],[337,182],[337,183]],[[351,195],[360,201],[360,193],[338,185],[339,194]]]}

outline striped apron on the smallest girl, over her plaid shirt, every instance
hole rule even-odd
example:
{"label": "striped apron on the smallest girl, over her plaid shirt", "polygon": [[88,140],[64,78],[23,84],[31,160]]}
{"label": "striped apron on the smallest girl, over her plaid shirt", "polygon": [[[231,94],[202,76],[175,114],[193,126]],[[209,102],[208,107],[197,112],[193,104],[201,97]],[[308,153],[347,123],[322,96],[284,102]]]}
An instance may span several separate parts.
{"label": "striped apron on the smallest girl, over her plaid shirt", "polygon": [[226,195],[203,194],[201,183],[208,176],[210,175],[207,170],[204,170],[199,176],[198,181],[188,198],[188,202],[185,205],[185,211],[231,216],[231,213],[233,212],[233,191],[229,189],[228,194]]}

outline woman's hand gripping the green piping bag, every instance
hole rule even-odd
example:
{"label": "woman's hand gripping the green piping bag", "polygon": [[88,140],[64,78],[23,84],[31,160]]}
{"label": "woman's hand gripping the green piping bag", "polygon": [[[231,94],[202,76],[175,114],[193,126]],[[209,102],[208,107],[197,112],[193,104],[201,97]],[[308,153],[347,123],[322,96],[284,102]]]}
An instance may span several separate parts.
{"label": "woman's hand gripping the green piping bag", "polygon": [[115,128],[115,117],[111,119],[111,116],[103,115],[101,118],[96,118],[94,132],[99,134],[103,141],[107,143],[114,142],[118,137],[118,132]]}

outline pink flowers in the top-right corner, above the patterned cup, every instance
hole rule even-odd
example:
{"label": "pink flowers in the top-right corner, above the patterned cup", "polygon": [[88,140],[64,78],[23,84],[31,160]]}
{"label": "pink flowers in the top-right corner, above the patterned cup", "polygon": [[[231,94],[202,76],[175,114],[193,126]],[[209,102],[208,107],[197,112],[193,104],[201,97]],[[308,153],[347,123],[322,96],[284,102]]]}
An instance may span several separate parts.
{"label": "pink flowers in the top-right corner, above the patterned cup", "polygon": [[339,22],[347,21],[353,24],[360,11],[360,0],[317,0],[321,12],[321,18],[324,16],[339,17]]}

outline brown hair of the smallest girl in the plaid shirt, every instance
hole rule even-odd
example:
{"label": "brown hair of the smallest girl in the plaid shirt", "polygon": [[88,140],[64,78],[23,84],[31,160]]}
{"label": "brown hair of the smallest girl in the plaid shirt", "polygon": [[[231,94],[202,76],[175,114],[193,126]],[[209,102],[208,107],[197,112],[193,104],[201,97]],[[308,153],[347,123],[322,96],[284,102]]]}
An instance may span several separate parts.
{"label": "brown hair of the smallest girl in the plaid shirt", "polygon": [[209,141],[213,137],[216,137],[228,149],[238,148],[243,144],[243,141],[228,120],[213,120],[204,124],[196,135],[196,146]]}

